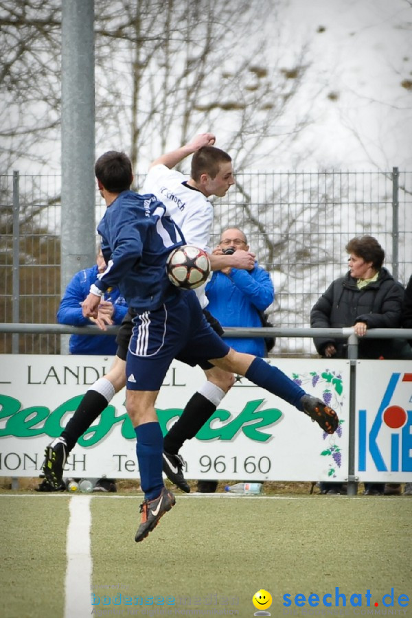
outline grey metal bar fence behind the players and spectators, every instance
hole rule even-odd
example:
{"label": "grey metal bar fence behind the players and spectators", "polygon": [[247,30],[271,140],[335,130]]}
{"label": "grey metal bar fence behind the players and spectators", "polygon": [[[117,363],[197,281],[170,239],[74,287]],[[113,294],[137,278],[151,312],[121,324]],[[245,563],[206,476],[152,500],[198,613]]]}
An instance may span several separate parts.
{"label": "grey metal bar fence behind the players and spectators", "polygon": [[[144,176],[137,176],[137,190]],[[96,196],[96,220],[103,206]],[[412,274],[412,172],[242,172],[214,202],[212,245],[240,227],[271,272],[279,328],[307,328],[310,309],[347,269],[345,245],[378,238],[385,265]],[[60,290],[60,176],[0,176],[1,322],[53,323]],[[74,273],[73,273],[74,274]],[[1,334],[0,352],[58,354],[57,334]],[[273,354],[315,354],[309,339],[278,338]]]}

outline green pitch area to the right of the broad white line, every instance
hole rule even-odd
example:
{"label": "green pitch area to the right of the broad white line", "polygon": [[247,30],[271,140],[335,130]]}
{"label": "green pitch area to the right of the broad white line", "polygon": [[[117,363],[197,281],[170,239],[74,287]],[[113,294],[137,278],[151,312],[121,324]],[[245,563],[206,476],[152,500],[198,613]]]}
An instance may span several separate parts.
{"label": "green pitch area to the right of the broad white line", "polygon": [[260,588],[273,596],[275,616],[285,593],[307,598],[336,586],[347,601],[368,588],[382,598],[392,586],[412,599],[409,499],[178,496],[140,544],[133,542],[136,506],[125,501],[119,520],[117,501],[93,501],[100,522],[92,532],[93,584],[119,582],[134,596],[188,597],[192,606],[196,597],[236,597],[245,617],[253,615]]}

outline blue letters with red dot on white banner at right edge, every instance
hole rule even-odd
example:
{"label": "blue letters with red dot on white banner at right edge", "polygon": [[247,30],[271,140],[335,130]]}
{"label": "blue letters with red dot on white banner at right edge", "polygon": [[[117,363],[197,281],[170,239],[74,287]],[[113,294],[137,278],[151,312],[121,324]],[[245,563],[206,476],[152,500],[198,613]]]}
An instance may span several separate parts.
{"label": "blue letters with red dot on white banner at right edge", "polygon": [[358,411],[358,470],[412,472],[412,374],[393,373],[378,411]]}

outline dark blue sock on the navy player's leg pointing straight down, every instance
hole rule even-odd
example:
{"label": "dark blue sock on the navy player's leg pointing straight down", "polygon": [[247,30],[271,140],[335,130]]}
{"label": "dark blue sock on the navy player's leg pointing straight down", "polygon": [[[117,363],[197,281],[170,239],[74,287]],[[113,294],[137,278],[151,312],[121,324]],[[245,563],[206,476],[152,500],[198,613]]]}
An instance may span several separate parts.
{"label": "dark blue sock on the navy player's leg pointing straight down", "polygon": [[146,500],[153,500],[163,489],[163,434],[159,423],[144,423],[135,427],[136,454],[139,462],[140,485]]}

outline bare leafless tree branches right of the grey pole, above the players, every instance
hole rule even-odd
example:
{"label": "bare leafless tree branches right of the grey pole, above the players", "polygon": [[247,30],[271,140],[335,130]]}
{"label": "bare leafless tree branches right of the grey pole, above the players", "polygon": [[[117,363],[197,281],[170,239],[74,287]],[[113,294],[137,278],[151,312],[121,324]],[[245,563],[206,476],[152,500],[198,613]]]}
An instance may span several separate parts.
{"label": "bare leafless tree branches right of the grey pole, above the players", "polygon": [[237,169],[290,145],[310,122],[302,111],[282,126],[308,56],[301,49],[293,66],[279,66],[272,49],[277,32],[264,34],[276,6],[238,0],[234,19],[224,0],[101,3],[96,82],[98,101],[102,90],[111,103],[98,104],[99,138],[113,136],[134,166],[145,168],[202,129],[215,131]]}

